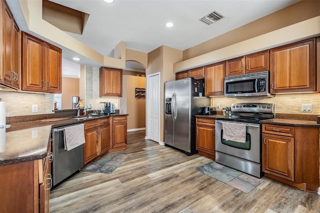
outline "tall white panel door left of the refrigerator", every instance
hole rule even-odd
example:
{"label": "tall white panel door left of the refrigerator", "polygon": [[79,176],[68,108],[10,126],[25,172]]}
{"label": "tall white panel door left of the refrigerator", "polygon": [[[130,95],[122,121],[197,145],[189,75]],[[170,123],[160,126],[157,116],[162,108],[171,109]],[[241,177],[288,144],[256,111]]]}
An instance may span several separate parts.
{"label": "tall white panel door left of the refrigerator", "polygon": [[160,73],[147,77],[147,137],[159,142],[160,131]]}

